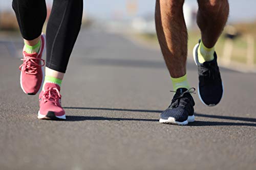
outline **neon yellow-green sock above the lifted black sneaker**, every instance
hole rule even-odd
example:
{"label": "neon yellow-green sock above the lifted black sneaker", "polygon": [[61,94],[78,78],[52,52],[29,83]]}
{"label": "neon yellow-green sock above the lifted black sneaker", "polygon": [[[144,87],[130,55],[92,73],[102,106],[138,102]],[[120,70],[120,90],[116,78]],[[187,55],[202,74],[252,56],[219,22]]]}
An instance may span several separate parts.
{"label": "neon yellow-green sock above the lifted black sneaker", "polygon": [[200,42],[198,48],[198,61],[204,63],[205,61],[214,60],[215,47],[207,48],[203,41]]}

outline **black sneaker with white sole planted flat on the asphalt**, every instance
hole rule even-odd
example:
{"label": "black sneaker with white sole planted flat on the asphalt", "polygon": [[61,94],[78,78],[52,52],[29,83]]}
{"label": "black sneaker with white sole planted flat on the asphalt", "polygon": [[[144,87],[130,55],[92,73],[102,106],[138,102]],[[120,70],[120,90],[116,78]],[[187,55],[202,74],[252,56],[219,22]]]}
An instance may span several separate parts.
{"label": "black sneaker with white sole planted flat on the asphalt", "polygon": [[195,90],[195,88],[177,89],[172,103],[161,113],[159,122],[173,125],[187,125],[189,122],[194,122],[195,102],[190,93],[194,93]]}

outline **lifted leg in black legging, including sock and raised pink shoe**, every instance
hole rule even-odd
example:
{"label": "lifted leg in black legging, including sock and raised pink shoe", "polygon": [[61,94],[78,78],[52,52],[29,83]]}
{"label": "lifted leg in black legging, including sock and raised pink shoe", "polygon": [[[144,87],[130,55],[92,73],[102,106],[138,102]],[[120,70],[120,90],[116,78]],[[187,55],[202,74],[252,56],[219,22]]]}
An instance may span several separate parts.
{"label": "lifted leg in black legging, including sock and raised pink shoe", "polygon": [[45,50],[45,36],[41,36],[46,20],[47,8],[45,0],[13,0],[20,32],[24,38],[23,64],[19,67],[20,86],[27,94],[36,94],[42,84],[41,59]]}

